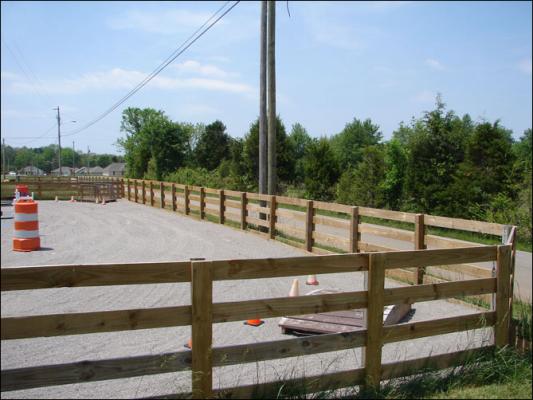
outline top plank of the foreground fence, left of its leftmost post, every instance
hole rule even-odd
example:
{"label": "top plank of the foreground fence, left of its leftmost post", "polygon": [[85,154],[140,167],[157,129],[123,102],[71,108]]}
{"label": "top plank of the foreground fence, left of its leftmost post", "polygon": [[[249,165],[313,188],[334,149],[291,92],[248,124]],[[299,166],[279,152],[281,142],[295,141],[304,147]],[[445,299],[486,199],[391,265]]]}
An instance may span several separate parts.
{"label": "top plank of the foreground fence, left of its leftmost post", "polygon": [[2,268],[1,290],[190,282],[188,262]]}

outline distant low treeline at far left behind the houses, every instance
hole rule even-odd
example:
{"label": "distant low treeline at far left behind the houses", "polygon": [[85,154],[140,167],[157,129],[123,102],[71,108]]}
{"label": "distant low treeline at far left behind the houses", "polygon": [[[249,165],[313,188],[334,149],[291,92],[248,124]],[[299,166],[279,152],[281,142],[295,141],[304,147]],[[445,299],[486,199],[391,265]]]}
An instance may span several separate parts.
{"label": "distant low treeline at far left behind the houses", "polygon": [[[4,152],[2,152],[2,157]],[[5,147],[6,173],[18,172],[24,167],[34,166],[49,174],[58,168],[58,146],[51,144],[45,147]],[[69,147],[61,149],[61,165],[63,167],[96,167],[105,168],[112,162],[123,162],[124,158],[115,154],[95,154],[74,151]],[[4,165],[2,159],[2,166]]]}

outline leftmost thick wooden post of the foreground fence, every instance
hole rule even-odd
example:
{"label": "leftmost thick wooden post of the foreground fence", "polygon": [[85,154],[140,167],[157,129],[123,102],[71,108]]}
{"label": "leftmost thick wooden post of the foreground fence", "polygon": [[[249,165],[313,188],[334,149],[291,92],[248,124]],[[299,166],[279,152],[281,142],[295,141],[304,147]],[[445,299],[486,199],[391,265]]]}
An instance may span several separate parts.
{"label": "leftmost thick wooden post of the foreground fence", "polygon": [[212,264],[191,262],[192,397],[207,399],[213,390]]}

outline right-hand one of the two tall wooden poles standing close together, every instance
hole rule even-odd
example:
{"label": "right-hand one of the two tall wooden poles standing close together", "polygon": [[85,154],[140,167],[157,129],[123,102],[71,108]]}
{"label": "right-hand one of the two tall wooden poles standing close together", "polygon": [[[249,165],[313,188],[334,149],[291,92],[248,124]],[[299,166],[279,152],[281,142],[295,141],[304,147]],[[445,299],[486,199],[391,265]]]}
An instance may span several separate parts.
{"label": "right-hand one of the two tall wooden poles standing close together", "polygon": [[276,171],[276,2],[268,2],[268,194],[277,192]]}

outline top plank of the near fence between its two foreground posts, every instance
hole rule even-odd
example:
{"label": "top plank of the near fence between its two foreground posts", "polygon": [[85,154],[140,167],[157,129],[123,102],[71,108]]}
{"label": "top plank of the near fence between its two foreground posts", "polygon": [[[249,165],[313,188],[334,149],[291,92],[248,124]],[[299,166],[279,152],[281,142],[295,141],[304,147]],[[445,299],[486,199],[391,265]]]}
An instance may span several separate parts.
{"label": "top plank of the near fence between its two foreground posts", "polygon": [[278,278],[368,269],[368,254],[213,261],[214,280]]}

